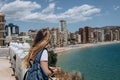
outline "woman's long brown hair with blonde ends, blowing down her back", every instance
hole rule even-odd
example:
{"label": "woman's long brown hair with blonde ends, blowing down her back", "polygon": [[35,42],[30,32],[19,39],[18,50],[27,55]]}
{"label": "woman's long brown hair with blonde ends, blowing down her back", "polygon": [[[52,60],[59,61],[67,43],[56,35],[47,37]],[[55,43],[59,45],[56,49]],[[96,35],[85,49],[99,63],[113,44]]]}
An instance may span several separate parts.
{"label": "woman's long brown hair with blonde ends, blowing down her back", "polygon": [[24,59],[25,67],[29,67],[29,60],[34,61],[37,53],[43,49],[50,42],[51,35],[49,29],[39,30],[34,38],[32,46],[29,50],[28,55]]}

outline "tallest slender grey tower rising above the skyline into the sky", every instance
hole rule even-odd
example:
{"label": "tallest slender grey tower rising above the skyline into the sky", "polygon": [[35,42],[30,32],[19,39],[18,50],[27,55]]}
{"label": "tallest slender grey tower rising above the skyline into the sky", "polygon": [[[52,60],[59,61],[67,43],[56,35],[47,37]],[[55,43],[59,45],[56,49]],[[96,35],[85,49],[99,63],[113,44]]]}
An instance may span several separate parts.
{"label": "tallest slender grey tower rising above the skyline into the sky", "polygon": [[63,34],[63,37],[62,37],[63,46],[67,46],[67,44],[68,44],[68,30],[67,30],[66,21],[60,20],[60,25],[61,25],[61,33]]}

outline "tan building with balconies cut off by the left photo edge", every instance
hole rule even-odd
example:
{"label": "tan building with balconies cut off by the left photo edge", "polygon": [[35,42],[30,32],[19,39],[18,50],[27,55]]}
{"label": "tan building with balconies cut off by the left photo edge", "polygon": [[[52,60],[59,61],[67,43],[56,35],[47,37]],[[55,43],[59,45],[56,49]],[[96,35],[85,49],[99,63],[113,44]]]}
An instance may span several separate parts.
{"label": "tan building with balconies cut off by the left photo edge", "polygon": [[6,31],[4,30],[4,25],[5,25],[5,15],[3,13],[0,13],[0,46],[3,46],[5,42],[4,33]]}

